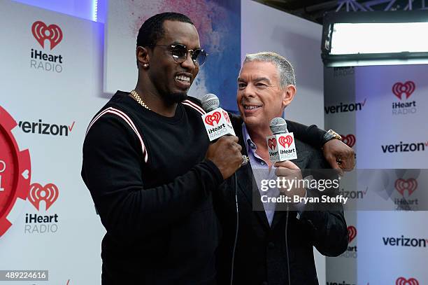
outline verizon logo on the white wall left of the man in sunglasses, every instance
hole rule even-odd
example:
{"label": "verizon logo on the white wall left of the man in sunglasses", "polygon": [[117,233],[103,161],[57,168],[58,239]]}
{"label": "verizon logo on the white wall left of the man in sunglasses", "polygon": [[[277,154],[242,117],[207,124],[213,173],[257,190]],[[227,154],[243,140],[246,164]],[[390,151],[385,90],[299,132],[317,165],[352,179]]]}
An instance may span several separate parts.
{"label": "verizon logo on the white wall left of the man in sunglasses", "polygon": [[20,120],[18,126],[26,133],[31,132],[31,134],[50,134],[52,136],[68,137],[69,133],[73,130],[75,123],[76,122],[73,121],[70,125],[57,125],[43,123],[41,119],[38,119],[38,122]]}

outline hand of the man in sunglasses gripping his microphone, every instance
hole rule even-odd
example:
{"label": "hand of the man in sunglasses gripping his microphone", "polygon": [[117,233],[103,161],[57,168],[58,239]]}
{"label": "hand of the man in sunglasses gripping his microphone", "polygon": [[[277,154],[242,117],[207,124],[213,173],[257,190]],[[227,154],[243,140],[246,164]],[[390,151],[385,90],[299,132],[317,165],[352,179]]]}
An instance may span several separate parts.
{"label": "hand of the man in sunglasses gripping his microphone", "polygon": [[220,169],[223,179],[227,179],[241,167],[241,149],[238,137],[223,136],[208,147],[206,158],[214,162]]}

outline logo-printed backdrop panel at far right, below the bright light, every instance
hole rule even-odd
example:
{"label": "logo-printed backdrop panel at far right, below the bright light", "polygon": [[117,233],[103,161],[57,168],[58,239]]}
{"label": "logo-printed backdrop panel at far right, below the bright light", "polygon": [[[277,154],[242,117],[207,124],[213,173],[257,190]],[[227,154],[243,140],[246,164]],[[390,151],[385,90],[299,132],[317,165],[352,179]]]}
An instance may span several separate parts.
{"label": "logo-printed backdrop panel at far right, below the bright light", "polygon": [[[416,169],[385,176],[383,187],[394,195],[397,179],[418,181],[418,169],[428,166],[427,73],[427,65],[324,70],[326,127],[354,137],[357,168]],[[419,147],[405,151],[401,144]],[[414,197],[403,193],[408,202]],[[346,217],[356,235],[345,254],[327,259],[328,284],[427,284],[428,229],[421,226],[427,211],[349,211]]]}

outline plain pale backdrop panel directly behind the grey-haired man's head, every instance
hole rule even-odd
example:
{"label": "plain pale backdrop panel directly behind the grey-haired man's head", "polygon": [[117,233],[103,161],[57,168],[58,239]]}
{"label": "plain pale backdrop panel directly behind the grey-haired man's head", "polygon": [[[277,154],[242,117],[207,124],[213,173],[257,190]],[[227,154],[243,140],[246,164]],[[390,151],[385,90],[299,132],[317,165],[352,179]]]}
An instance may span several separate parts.
{"label": "plain pale backdrop panel directly behind the grey-haired man's head", "polygon": [[241,62],[247,53],[274,51],[290,60],[297,94],[285,117],[324,126],[322,26],[255,1],[241,1]]}

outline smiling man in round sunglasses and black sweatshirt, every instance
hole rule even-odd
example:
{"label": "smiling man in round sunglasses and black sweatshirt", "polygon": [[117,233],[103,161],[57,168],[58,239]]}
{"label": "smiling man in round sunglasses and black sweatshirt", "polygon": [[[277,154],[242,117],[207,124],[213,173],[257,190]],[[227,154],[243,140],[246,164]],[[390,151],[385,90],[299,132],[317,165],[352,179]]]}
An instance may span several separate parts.
{"label": "smiling man in round sunglasses and black sweatshirt", "polygon": [[107,230],[104,285],[215,284],[212,193],[243,158],[237,137],[209,144],[204,110],[187,97],[205,61],[187,16],[149,18],[135,89],[117,91],[88,127],[82,176]]}

